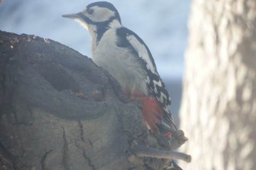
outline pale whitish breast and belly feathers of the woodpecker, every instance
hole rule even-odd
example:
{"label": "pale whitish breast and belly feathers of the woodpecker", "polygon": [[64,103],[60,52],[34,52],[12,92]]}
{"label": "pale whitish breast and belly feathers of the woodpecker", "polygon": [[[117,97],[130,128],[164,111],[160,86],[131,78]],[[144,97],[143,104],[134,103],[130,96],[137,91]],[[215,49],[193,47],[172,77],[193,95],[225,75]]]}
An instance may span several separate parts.
{"label": "pale whitish breast and belly feathers of the woodpecker", "polygon": [[129,49],[116,46],[116,29],[107,30],[96,46],[92,36],[92,59],[121,84],[124,92],[148,96],[147,74]]}

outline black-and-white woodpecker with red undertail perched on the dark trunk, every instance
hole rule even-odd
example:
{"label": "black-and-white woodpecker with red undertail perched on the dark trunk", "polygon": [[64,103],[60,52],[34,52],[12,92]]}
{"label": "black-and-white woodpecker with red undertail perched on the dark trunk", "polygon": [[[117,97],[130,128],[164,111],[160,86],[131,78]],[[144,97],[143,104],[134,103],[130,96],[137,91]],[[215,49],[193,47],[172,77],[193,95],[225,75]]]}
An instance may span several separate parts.
{"label": "black-and-white woodpecker with red undertail perched on the dark trunk", "polygon": [[114,5],[95,2],[82,12],[62,17],[74,19],[89,31],[92,60],[121,84],[125,98],[141,101],[148,128],[152,132],[168,129],[170,138],[177,131],[169,109],[171,98],[149,48],[122,25]]}

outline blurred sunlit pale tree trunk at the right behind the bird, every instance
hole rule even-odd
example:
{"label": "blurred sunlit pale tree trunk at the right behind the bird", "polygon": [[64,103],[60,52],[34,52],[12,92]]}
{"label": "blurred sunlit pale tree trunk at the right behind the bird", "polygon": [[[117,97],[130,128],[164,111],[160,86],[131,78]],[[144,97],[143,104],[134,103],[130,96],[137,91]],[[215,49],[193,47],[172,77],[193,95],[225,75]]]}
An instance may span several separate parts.
{"label": "blurred sunlit pale tree trunk at the right behind the bird", "polygon": [[194,0],[181,105],[184,169],[256,169],[256,1]]}

